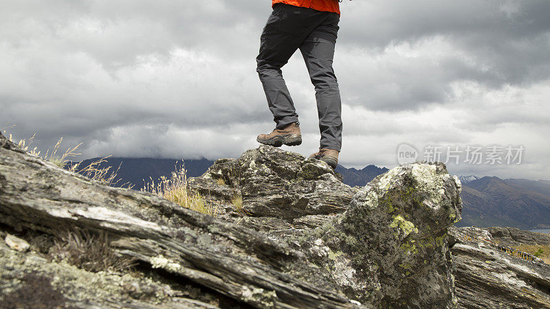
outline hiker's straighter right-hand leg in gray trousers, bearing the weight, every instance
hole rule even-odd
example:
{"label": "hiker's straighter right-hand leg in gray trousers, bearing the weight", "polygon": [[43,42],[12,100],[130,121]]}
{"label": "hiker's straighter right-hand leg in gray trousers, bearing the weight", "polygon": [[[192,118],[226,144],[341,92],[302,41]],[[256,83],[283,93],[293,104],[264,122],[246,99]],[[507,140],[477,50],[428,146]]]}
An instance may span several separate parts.
{"label": "hiker's straighter right-hand leg in gray trousers, bearing the weight", "polygon": [[340,16],[326,13],[327,19],[307,36],[300,46],[311,82],[315,86],[320,148],[342,148],[342,102],[338,80],[332,68]]}

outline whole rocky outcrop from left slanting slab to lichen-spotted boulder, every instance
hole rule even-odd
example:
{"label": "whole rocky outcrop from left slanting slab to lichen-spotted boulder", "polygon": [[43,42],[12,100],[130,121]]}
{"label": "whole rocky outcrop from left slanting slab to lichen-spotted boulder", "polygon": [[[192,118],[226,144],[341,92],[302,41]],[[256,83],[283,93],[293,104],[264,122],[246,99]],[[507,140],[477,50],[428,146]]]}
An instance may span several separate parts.
{"label": "whole rocky outcrop from left slanting slab to lichen-spotted boulder", "polygon": [[[34,284],[75,307],[456,306],[445,236],[460,218],[460,183],[441,163],[404,165],[359,190],[326,163],[261,146],[190,185],[223,220],[105,187],[0,135],[0,236],[30,244],[0,245],[0,301],[24,304]],[[65,229],[107,235],[137,266],[93,273],[50,260]]]}

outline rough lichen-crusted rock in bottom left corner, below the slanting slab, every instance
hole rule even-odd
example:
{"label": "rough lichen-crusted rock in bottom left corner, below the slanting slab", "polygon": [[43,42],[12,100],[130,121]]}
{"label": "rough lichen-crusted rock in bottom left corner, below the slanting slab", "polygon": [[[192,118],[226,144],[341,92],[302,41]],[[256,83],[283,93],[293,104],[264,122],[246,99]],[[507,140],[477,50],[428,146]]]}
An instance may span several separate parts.
{"label": "rough lichen-crusted rock in bottom left corner, below the slanting slab", "polygon": [[[42,286],[32,286],[38,280]],[[41,293],[45,298],[32,299],[32,293]],[[60,293],[63,297],[58,296]],[[56,304],[51,303],[52,298]],[[162,280],[160,276],[91,273],[65,262],[50,262],[36,252],[23,254],[0,244],[2,308],[218,308],[220,300],[206,290]]]}

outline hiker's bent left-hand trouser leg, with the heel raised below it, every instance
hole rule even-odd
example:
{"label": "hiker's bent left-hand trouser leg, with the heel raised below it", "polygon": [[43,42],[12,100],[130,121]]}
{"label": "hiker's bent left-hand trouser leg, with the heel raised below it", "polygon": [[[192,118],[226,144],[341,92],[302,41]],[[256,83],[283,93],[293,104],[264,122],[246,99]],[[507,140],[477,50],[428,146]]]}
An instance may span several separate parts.
{"label": "hiker's bent left-hand trouser leg, with the heel raised below it", "polygon": [[294,102],[283,79],[281,67],[296,52],[305,38],[300,19],[294,16],[292,5],[278,4],[267,20],[260,43],[260,53],[256,58],[260,80],[265,91],[267,104],[273,113],[276,128],[284,128],[298,122]]}

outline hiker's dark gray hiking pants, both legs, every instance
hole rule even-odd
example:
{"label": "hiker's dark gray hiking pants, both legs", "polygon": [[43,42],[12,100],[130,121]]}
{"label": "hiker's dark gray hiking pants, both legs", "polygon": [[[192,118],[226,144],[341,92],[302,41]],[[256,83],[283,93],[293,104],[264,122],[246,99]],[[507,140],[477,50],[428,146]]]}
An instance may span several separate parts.
{"label": "hiker's dark gray hiking pants, both legs", "polygon": [[320,148],[342,148],[342,103],[332,69],[340,15],[278,3],[274,5],[261,36],[256,58],[260,80],[273,113],[276,128],[298,122],[294,102],[281,67],[300,49],[315,86]]}

